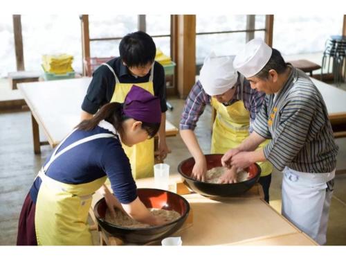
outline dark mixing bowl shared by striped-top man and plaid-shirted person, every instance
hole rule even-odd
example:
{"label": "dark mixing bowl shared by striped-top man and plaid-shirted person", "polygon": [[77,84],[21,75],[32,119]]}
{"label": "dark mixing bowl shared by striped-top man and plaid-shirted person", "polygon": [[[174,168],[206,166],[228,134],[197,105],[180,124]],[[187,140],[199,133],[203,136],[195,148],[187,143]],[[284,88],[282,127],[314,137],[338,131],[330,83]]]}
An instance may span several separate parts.
{"label": "dark mixing bowl shared by striped-top man and plaid-shirted person", "polygon": [[[215,154],[205,156],[207,161],[207,170],[222,166],[221,157],[223,155]],[[242,195],[243,193],[248,191],[248,189],[251,189],[251,187],[253,187],[256,182],[258,182],[261,174],[260,166],[258,166],[258,164],[251,164],[251,166],[244,169],[245,171],[248,171],[248,173],[250,173],[251,177],[249,178],[249,180],[230,184],[216,184],[194,180],[194,178],[191,177],[193,167],[194,158],[190,157],[189,159],[185,159],[179,164],[178,171],[181,176],[184,177],[185,182],[193,191],[208,197],[232,197]]]}

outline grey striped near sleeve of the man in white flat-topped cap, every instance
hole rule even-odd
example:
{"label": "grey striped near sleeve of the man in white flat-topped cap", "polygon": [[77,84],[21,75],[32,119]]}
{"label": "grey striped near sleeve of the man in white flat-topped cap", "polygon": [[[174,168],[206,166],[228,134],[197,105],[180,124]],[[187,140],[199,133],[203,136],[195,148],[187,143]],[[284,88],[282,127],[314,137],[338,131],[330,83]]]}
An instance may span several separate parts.
{"label": "grey striped near sleeve of the man in white flat-topped cap", "polygon": [[315,111],[316,100],[307,92],[292,96],[280,110],[275,137],[264,148],[264,156],[279,171],[300,153],[306,143]]}

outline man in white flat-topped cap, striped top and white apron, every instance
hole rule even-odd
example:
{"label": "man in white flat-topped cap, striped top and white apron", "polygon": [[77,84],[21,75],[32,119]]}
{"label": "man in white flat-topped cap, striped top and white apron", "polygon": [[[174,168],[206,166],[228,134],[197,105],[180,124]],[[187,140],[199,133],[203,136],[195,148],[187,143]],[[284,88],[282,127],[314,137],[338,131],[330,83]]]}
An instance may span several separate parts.
{"label": "man in white flat-topped cap, striped top and white apron", "polygon": [[[233,64],[266,97],[254,131],[224,155],[222,164],[244,168],[271,162],[284,173],[282,215],[325,244],[338,146],[322,95],[309,76],[260,39],[248,42]],[[266,139],[268,146],[255,150]]]}

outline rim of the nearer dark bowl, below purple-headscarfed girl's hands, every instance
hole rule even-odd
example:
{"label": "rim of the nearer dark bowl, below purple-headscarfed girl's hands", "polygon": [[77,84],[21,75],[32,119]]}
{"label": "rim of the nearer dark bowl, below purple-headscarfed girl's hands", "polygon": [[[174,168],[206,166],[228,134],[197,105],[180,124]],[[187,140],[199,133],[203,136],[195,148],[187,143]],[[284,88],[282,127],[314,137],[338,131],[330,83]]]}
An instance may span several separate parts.
{"label": "rim of the nearer dark bowl, below purple-headscarfed girl's hands", "polygon": [[[100,200],[98,200],[98,202],[95,203],[95,206],[93,207],[93,214],[95,215],[95,218],[97,220],[103,220],[104,222],[106,222],[108,225],[110,225],[111,227],[116,227],[118,229],[124,229],[124,230],[131,230],[131,231],[142,231],[142,230],[152,230],[152,229],[157,229],[158,227],[167,227],[169,225],[172,225],[174,223],[178,223],[179,220],[181,220],[182,218],[185,218],[188,216],[188,214],[190,213],[190,204],[188,202],[188,200],[186,200],[183,196],[177,194],[177,193],[174,193],[172,191],[166,191],[165,189],[156,189],[156,188],[137,188],[137,190],[140,189],[140,190],[145,190],[145,189],[149,189],[149,190],[157,190],[157,191],[165,191],[167,193],[172,193],[176,196],[179,196],[183,199],[183,202],[185,203],[185,205],[187,206],[186,208],[186,212],[185,214],[183,214],[180,218],[177,218],[176,220],[170,222],[170,223],[166,223],[165,225],[159,225],[159,226],[150,226],[150,227],[136,227],[136,228],[131,228],[131,227],[122,227],[122,226],[118,226],[118,225],[114,225],[112,223],[109,223],[108,221],[106,221],[105,218],[101,218],[100,215],[98,214],[98,211],[97,211],[97,207],[98,205],[102,202],[102,200],[105,200],[104,197],[101,198]],[[137,196],[138,197],[138,196]]]}

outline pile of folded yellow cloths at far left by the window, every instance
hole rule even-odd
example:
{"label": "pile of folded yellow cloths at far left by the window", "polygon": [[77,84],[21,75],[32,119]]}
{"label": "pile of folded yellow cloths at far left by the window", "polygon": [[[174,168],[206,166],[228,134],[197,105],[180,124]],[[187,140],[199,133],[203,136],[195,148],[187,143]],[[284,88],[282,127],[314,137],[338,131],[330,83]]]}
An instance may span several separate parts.
{"label": "pile of folded yellow cloths at far left by the window", "polygon": [[42,67],[49,73],[63,74],[73,71],[73,55],[43,55]]}

